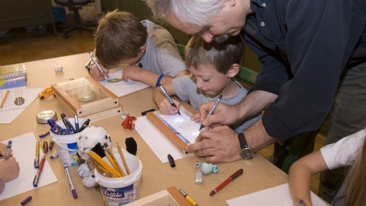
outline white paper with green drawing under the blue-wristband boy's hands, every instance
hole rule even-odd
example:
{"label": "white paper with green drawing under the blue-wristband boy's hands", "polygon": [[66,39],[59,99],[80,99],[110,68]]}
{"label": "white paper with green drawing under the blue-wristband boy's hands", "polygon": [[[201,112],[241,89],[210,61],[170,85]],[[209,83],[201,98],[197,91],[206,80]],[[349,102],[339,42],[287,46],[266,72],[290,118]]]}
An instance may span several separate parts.
{"label": "white paper with green drawing under the blue-wristband boy's hands", "polygon": [[[113,78],[120,79],[122,77],[122,72],[123,72],[123,70],[119,67],[110,69],[109,74],[108,74],[109,79],[113,79]],[[107,82],[107,80],[104,80],[104,81],[99,81],[99,83],[118,97],[128,95],[132,92],[136,92],[143,88],[149,87],[149,85],[147,85],[147,84],[144,84],[144,83],[138,82],[138,81],[132,81],[130,79],[127,80],[127,82],[120,81],[120,82],[116,82],[116,83],[110,83],[110,82]]]}

